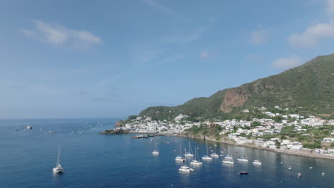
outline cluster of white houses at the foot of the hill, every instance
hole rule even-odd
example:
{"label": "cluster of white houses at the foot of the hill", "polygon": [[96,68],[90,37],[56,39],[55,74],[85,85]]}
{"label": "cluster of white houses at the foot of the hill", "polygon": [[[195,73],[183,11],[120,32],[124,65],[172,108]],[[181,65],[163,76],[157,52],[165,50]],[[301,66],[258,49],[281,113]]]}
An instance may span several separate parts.
{"label": "cluster of white houses at the foot of the hill", "polygon": [[[270,112],[265,112],[265,113],[270,116]],[[271,113],[271,115],[272,114],[273,113]],[[280,133],[280,130],[282,130],[283,127],[291,125],[294,125],[295,131],[305,136],[308,136],[309,134],[306,132],[307,129],[305,129],[305,125],[312,127],[321,127],[323,125],[334,125],[334,120],[323,120],[319,117],[314,117],[314,116],[304,118],[303,116],[298,114],[282,115],[284,119],[281,122],[275,122],[272,119],[258,119],[258,118],[254,118],[251,121],[233,119],[233,120],[223,120],[223,121],[206,120],[204,122],[189,122],[186,120],[187,117],[188,117],[187,115],[180,114],[176,116],[173,121],[152,120],[151,117],[136,117],[136,119],[127,122],[125,127],[122,128],[126,130],[132,130],[133,132],[138,132],[138,133],[146,133],[146,134],[161,133],[168,135],[177,135],[183,133],[184,131],[193,126],[220,125],[221,127],[223,127],[223,131],[220,132],[220,135],[226,135],[230,140],[233,140],[240,145],[251,143],[259,147],[268,147],[275,149],[278,147],[277,143],[279,142],[280,143],[279,147],[281,150],[308,150],[303,148],[301,142],[296,142],[293,140],[280,140],[279,138],[263,140],[262,138],[254,139],[254,137],[278,134]],[[288,117],[293,117],[295,119],[288,120]],[[260,124],[258,124],[258,126],[256,127],[252,127],[251,125],[253,122],[259,122]],[[331,132],[331,135],[333,136],[324,138],[323,142],[334,142],[334,131]],[[252,137],[253,139],[250,139],[248,137]],[[316,150],[316,152],[328,153],[334,155],[334,150],[330,149]]]}

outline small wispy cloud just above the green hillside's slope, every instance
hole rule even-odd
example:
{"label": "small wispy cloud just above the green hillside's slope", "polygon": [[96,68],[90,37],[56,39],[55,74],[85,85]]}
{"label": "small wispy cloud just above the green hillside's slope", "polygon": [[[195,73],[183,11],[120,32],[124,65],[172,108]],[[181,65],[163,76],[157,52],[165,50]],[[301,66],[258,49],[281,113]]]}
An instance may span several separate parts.
{"label": "small wispy cloud just above the green hillside's slope", "polygon": [[276,59],[273,61],[271,66],[275,69],[285,70],[288,68],[300,66],[302,63],[303,61],[299,56],[290,56]]}

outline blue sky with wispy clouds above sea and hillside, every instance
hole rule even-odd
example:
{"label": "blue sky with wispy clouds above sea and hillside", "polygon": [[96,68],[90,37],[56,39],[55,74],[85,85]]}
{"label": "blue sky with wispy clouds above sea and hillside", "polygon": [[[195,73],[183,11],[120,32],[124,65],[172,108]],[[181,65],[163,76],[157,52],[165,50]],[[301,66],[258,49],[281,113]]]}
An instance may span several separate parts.
{"label": "blue sky with wispy clouds above sea and hillside", "polygon": [[334,52],[334,0],[0,1],[0,118],[127,117]]}

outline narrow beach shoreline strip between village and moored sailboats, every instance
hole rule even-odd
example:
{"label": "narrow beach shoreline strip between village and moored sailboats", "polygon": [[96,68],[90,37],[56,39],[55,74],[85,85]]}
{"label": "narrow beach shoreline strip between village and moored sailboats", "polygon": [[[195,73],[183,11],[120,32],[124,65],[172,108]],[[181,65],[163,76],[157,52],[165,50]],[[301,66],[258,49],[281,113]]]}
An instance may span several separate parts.
{"label": "narrow beach shoreline strip between village and moored sailboats", "polygon": [[192,137],[188,135],[166,135],[166,136],[174,136],[174,137],[188,137],[196,140],[208,140],[210,142],[218,142],[218,143],[223,143],[227,145],[236,145],[236,146],[241,146],[241,147],[249,147],[249,148],[254,148],[257,150],[266,150],[269,152],[276,152],[276,153],[282,153],[285,155],[296,155],[296,156],[302,156],[302,157],[312,157],[312,158],[318,158],[318,159],[324,159],[324,160],[334,160],[334,155],[324,155],[324,154],[318,154],[318,153],[310,153],[305,150],[298,150],[298,151],[293,151],[293,150],[280,150],[280,149],[272,149],[272,148],[267,148],[267,147],[258,147],[256,145],[250,145],[250,144],[245,144],[245,145],[239,145],[236,142],[231,142],[228,140],[216,140],[211,137]]}

